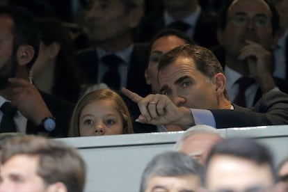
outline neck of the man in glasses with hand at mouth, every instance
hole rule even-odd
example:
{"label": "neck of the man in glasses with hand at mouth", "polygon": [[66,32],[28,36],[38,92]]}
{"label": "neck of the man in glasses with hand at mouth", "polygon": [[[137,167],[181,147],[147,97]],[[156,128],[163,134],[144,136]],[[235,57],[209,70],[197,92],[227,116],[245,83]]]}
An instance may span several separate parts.
{"label": "neck of the man in glasses with hand at mouth", "polygon": [[249,69],[248,69],[248,65],[247,65],[245,60],[241,61],[236,57],[228,56],[226,54],[225,65],[230,67],[232,70],[239,72],[243,76],[247,76],[250,74]]}

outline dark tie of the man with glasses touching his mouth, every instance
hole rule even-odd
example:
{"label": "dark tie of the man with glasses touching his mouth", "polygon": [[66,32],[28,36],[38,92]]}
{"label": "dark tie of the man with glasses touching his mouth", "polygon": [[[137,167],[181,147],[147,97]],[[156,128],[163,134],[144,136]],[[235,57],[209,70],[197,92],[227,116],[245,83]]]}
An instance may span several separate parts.
{"label": "dark tie of the man with glasses touching his mouth", "polygon": [[246,92],[246,89],[249,86],[251,86],[254,82],[255,82],[255,79],[253,79],[252,77],[241,77],[236,81],[236,83],[239,84],[239,90],[233,101],[234,104],[237,104],[239,106],[244,106],[244,107],[247,106],[245,92]]}

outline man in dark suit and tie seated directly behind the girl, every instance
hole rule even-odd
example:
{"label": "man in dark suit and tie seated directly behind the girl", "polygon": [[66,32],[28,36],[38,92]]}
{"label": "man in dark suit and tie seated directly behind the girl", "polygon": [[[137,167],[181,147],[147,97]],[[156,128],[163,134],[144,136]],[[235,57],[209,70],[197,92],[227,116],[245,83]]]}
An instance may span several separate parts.
{"label": "man in dark suit and tie seated directly behind the girl", "polygon": [[133,31],[143,15],[143,1],[93,1],[85,16],[94,47],[77,53],[84,83],[106,83],[119,90],[127,86],[140,95],[150,93],[145,83],[147,46],[133,42]]}

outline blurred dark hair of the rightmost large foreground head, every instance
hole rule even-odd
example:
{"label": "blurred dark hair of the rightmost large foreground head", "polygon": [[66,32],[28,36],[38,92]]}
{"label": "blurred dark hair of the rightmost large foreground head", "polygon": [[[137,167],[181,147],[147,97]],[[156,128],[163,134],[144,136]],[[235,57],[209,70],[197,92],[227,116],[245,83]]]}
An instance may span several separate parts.
{"label": "blurred dark hair of the rightmost large foreground head", "polygon": [[253,161],[257,165],[268,164],[274,179],[276,178],[271,152],[266,146],[257,143],[253,138],[227,138],[214,145],[207,156],[206,167],[209,166],[211,159],[216,155],[239,157]]}

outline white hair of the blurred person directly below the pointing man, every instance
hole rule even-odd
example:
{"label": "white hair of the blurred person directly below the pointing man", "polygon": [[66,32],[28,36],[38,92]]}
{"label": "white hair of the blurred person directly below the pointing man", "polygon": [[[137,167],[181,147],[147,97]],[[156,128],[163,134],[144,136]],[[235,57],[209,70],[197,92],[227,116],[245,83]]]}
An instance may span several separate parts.
{"label": "white hair of the blurred person directly below the pointing man", "polygon": [[217,131],[217,129],[215,129],[214,127],[208,126],[208,125],[195,125],[193,127],[190,127],[189,129],[187,129],[184,134],[182,135],[181,138],[179,138],[177,140],[177,142],[174,145],[174,150],[175,151],[181,151],[184,140],[186,138],[189,138],[189,136],[192,136],[194,134],[215,134],[220,136],[221,138],[223,138],[219,132]]}

